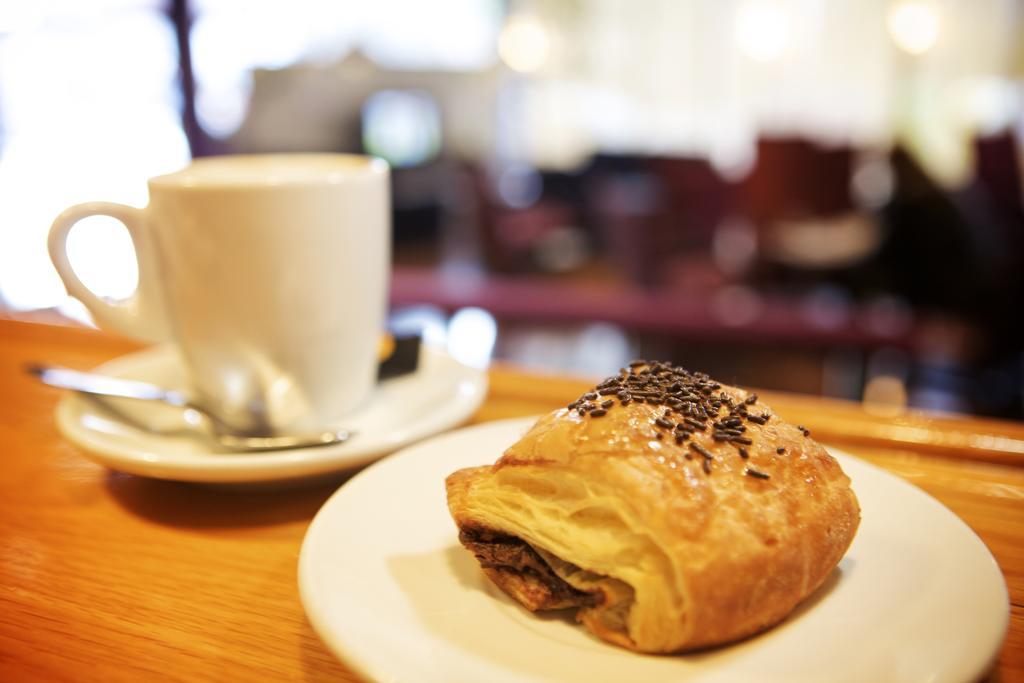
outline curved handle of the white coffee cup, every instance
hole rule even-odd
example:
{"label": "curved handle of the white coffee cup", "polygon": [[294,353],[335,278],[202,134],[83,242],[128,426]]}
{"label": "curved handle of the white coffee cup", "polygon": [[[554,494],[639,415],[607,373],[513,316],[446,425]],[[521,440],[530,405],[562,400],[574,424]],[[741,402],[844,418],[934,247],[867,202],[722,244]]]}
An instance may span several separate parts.
{"label": "curved handle of the white coffee cup", "polygon": [[[71,228],[83,218],[96,215],[110,216],[124,223],[135,247],[138,287],[127,299],[114,301],[96,296],[75,274],[68,258],[68,234]],[[47,246],[50,260],[63,281],[68,294],[85,304],[99,327],[146,342],[170,339],[170,326],[154,258],[152,231],[144,210],[111,202],[77,204],[53,221]]]}

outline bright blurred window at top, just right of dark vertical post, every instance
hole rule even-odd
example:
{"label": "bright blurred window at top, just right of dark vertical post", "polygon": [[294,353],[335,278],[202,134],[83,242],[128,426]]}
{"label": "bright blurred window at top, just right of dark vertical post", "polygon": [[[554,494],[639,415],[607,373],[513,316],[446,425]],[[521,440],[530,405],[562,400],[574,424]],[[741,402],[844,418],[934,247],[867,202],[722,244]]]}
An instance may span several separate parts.
{"label": "bright blurred window at top, just right of dark vertical post", "polygon": [[212,135],[246,116],[256,69],[325,66],[361,50],[395,70],[475,71],[497,59],[500,0],[196,0],[196,113]]}

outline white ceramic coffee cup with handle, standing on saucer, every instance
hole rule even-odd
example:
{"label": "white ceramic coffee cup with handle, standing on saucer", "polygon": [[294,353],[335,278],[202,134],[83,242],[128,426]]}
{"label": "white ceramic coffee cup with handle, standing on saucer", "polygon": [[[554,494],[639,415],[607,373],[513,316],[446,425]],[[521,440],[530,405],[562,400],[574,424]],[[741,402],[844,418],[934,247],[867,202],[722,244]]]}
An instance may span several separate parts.
{"label": "white ceramic coffee cup with handle, standing on saucer", "polygon": [[[373,390],[387,307],[389,171],[347,155],[213,157],[150,179],[144,209],[95,202],[53,222],[50,258],[97,325],[171,341],[198,400],[252,433],[344,426]],[[139,285],[97,297],[72,226],[125,224]]]}

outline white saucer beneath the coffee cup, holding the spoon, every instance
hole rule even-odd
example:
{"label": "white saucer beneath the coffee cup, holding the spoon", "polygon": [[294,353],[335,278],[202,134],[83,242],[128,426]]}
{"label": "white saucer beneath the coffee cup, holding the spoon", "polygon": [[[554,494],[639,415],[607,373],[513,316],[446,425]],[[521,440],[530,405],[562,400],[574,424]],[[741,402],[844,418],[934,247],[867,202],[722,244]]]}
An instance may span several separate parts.
{"label": "white saucer beneath the coffee cup, holding the spoon", "polygon": [[[170,388],[183,386],[181,361],[168,346],[122,356],[96,372]],[[451,429],[476,412],[486,385],[483,371],[424,345],[415,373],[381,382],[367,404],[346,421],[344,426],[356,432],[348,441],[255,454],[217,452],[208,439],[185,429],[180,411],[159,403],[116,399],[118,415],[102,403],[69,393],[57,405],[56,419],[60,431],[94,460],[123,472],[181,481],[282,481],[364,465]]]}

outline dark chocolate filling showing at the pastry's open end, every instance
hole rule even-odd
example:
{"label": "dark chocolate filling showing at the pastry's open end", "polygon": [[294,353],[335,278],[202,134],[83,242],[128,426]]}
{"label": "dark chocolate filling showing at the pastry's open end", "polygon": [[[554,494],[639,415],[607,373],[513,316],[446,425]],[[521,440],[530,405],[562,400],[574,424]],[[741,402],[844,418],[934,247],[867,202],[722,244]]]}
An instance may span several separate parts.
{"label": "dark chocolate filling showing at the pastry's open end", "polygon": [[480,563],[483,569],[516,574],[540,589],[531,609],[561,609],[599,604],[599,593],[585,593],[560,579],[530,545],[514,536],[484,528],[464,528],[459,541]]}

